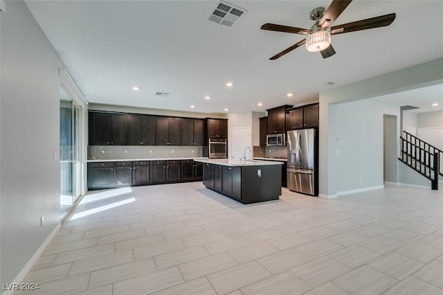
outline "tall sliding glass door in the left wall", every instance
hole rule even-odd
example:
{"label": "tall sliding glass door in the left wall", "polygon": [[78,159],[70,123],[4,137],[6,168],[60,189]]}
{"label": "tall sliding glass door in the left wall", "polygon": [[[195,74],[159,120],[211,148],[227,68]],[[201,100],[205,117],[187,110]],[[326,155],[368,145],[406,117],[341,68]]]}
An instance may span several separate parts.
{"label": "tall sliding glass door in the left wall", "polygon": [[60,87],[60,217],[81,194],[80,116],[80,105]]}

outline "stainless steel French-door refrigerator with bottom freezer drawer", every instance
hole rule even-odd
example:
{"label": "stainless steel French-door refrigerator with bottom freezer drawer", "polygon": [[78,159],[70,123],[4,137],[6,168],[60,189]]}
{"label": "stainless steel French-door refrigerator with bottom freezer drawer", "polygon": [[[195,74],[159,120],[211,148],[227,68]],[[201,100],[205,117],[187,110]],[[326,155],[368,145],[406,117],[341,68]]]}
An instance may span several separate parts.
{"label": "stainless steel French-door refrigerator with bottom freezer drawer", "polygon": [[318,196],[318,129],[287,132],[289,190]]}

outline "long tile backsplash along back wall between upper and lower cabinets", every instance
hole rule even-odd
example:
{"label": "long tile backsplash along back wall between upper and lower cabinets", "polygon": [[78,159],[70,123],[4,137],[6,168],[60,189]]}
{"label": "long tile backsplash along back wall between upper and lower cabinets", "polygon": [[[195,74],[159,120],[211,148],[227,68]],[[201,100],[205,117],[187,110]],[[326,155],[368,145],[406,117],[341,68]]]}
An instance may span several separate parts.
{"label": "long tile backsplash along back wall between upper and lower cabinets", "polygon": [[89,145],[89,160],[125,160],[203,157],[203,147],[164,145]]}

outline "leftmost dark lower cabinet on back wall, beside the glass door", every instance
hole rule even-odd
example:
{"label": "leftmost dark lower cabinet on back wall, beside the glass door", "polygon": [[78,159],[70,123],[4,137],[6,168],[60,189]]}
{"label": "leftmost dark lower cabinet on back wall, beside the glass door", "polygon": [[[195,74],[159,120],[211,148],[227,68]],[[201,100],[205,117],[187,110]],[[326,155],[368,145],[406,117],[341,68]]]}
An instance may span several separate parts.
{"label": "leftmost dark lower cabinet on back wall, beside the glass door", "polygon": [[114,163],[88,163],[88,188],[100,189],[112,187],[114,187]]}

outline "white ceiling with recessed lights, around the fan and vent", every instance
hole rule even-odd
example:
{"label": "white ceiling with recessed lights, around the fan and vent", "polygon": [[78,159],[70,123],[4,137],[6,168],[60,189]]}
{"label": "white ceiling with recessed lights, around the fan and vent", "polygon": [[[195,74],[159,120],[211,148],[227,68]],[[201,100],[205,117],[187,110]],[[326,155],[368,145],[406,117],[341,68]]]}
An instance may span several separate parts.
{"label": "white ceiling with recessed lights, around the fan and vent", "polygon": [[[304,36],[260,26],[310,28],[309,12],[331,1],[229,2],[248,10],[232,27],[208,21],[217,1],[26,4],[87,100],[111,105],[208,114],[224,113],[225,107],[264,111],[318,100],[325,82],[340,87],[443,57],[440,0],[354,0],[334,25],[391,12],[397,18],[388,27],[332,36],[337,53],[325,60],[302,47],[273,61],[269,57]],[[228,89],[226,82],[234,86]],[[133,91],[135,85],[141,90]],[[433,90],[443,107],[442,87]],[[156,97],[157,91],[170,96]],[[400,105],[426,106],[406,102],[405,93],[397,99]]]}

